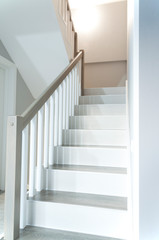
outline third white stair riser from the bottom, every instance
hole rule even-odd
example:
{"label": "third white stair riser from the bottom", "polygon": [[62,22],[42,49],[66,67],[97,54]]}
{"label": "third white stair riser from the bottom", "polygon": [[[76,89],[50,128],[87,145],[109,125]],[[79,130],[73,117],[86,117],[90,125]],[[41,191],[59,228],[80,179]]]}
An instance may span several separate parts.
{"label": "third white stair riser from the bottom", "polygon": [[127,167],[126,147],[76,147],[55,148],[58,164]]}

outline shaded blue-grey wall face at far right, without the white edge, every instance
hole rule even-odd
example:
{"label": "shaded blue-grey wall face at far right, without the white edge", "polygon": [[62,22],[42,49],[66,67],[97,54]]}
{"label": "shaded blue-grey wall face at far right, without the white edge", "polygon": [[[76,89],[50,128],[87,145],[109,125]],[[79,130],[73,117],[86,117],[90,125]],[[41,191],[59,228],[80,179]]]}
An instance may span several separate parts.
{"label": "shaded blue-grey wall face at far right, without the white edge", "polygon": [[159,239],[159,1],[139,1],[139,239]]}

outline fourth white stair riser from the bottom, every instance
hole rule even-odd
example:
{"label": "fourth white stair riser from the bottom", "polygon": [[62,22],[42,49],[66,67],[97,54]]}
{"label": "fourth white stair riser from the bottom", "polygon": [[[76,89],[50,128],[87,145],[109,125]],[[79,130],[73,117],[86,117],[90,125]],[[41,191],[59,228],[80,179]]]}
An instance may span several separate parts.
{"label": "fourth white stair riser from the bottom", "polygon": [[126,146],[126,130],[63,130],[65,146]]}

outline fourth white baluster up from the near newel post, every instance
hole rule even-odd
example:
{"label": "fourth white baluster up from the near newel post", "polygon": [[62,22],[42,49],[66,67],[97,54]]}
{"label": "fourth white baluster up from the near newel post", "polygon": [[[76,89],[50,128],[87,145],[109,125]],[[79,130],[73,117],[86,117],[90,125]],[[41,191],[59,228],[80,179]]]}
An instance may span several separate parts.
{"label": "fourth white baluster up from the near newel post", "polygon": [[49,101],[45,103],[44,168],[49,166]]}

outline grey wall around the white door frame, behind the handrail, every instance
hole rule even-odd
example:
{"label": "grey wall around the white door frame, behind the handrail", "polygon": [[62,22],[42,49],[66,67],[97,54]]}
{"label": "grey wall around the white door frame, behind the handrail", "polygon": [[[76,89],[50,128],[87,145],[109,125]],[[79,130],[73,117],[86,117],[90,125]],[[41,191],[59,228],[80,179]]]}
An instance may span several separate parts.
{"label": "grey wall around the white door frame, behind the handrail", "polygon": [[[9,61],[13,62],[4,45],[0,41],[0,55]],[[17,86],[16,86],[16,114],[20,115],[23,111],[34,101],[29,89],[27,88],[20,73],[17,73]]]}

